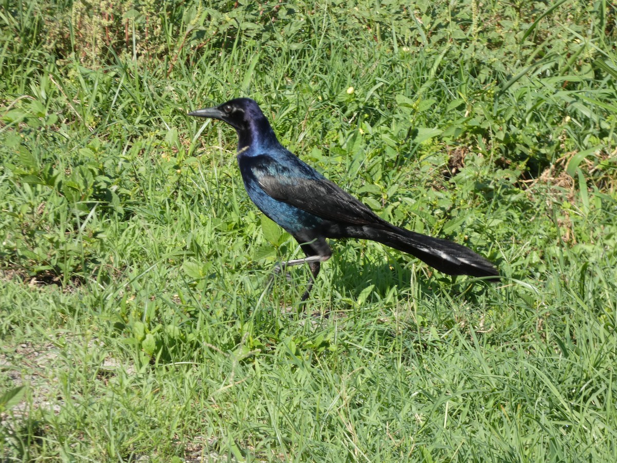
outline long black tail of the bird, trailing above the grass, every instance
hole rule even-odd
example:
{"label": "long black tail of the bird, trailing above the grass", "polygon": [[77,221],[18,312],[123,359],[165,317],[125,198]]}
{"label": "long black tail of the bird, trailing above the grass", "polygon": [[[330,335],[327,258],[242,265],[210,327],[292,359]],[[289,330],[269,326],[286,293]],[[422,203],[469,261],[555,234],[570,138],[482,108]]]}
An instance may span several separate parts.
{"label": "long black tail of the bird, trailing above the grass", "polygon": [[491,280],[499,280],[499,272],[491,261],[452,241],[421,235],[387,222],[347,231],[354,238],[378,241],[399,251],[408,252],[448,275],[494,277]]}

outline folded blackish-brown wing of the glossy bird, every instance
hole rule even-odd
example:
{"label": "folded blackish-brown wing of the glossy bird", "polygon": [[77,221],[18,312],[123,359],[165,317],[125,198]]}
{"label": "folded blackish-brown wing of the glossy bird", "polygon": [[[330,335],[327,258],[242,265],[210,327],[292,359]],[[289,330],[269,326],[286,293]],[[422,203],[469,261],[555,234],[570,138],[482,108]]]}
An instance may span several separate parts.
{"label": "folded blackish-brown wing of the glossy bird", "polygon": [[283,165],[268,158],[263,155],[262,162],[255,162],[251,170],[259,186],[272,198],[323,219],[355,225],[381,222],[368,206],[304,162]]}

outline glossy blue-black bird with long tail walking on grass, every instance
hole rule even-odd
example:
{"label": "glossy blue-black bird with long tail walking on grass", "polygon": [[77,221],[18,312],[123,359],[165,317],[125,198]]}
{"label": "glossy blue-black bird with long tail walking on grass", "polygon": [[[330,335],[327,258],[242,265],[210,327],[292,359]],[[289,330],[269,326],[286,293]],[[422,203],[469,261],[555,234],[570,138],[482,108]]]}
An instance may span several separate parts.
{"label": "glossy blue-black bird with long tail walking on grass", "polygon": [[288,231],[307,257],[281,262],[277,271],[309,264],[312,273],[302,296],[309,297],[321,262],[332,254],[326,238],[365,238],[408,252],[449,275],[493,277],[495,266],[465,246],[396,227],[281,145],[268,119],[250,98],[189,112],[223,120],[238,132],[238,165],[244,187],[263,214]]}

